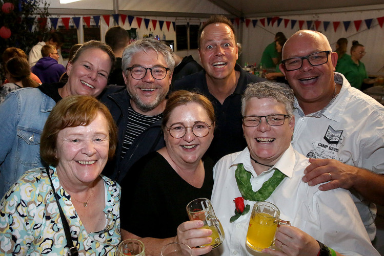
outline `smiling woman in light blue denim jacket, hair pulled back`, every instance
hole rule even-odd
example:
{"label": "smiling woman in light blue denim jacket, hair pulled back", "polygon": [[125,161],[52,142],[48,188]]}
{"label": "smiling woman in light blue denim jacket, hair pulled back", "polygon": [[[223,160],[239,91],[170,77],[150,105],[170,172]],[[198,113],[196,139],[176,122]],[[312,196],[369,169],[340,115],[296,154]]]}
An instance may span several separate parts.
{"label": "smiling woman in light blue denim jacket, hair pulled back", "polygon": [[0,104],[0,197],[26,170],[43,165],[41,134],[53,106],[71,95],[98,97],[107,86],[114,61],[109,46],[88,41],[69,63],[67,83],[43,83],[7,95]]}

